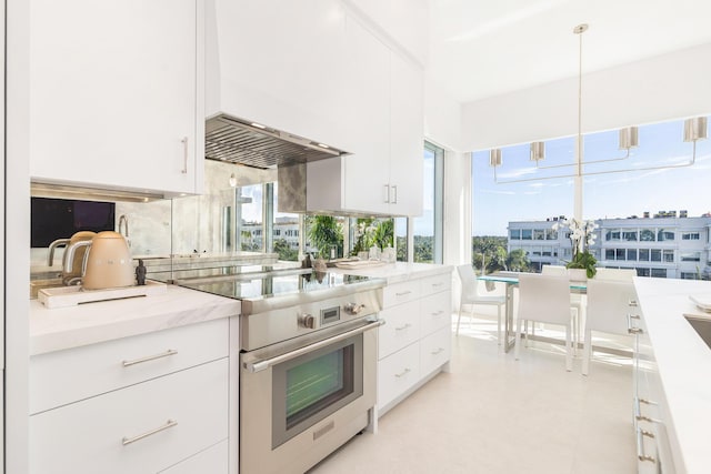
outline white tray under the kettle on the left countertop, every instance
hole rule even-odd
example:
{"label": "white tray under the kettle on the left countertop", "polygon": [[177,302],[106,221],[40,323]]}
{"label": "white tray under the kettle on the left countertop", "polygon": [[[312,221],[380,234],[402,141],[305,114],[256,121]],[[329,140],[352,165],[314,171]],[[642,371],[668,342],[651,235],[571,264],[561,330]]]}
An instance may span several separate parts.
{"label": "white tray under the kettle on the left countertop", "polygon": [[166,283],[146,280],[141,286],[112,288],[107,290],[84,290],[81,286],[46,288],[37,292],[37,299],[47,309],[76,306],[83,303],[98,301],[121,300],[134,296],[151,296],[164,294],[168,291]]}

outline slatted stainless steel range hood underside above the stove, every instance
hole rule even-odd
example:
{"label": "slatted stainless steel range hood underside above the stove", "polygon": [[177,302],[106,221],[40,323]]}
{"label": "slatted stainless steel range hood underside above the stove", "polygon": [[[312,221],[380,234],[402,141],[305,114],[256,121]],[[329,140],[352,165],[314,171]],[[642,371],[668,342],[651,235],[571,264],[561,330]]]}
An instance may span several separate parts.
{"label": "slatted stainless steel range hood underside above the stove", "polygon": [[219,114],[206,123],[206,158],[268,169],[348,154],[267,125]]}

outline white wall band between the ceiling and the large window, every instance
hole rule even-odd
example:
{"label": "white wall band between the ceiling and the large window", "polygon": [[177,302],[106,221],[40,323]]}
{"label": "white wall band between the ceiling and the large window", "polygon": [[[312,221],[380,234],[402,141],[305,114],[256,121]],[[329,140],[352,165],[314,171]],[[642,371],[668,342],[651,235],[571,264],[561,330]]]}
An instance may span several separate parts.
{"label": "white wall band between the ceiling and the large window", "polygon": [[[711,43],[583,74],[583,133],[711,112]],[[578,78],[470,102],[463,150],[578,132]]]}

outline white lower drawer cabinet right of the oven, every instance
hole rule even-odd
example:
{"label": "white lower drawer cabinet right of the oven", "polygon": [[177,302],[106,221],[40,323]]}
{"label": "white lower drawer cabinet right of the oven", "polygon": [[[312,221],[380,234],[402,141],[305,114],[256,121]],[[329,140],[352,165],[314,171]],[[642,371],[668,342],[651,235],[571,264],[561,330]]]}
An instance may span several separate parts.
{"label": "white lower drawer cabinet right of the oven", "polygon": [[451,354],[451,273],[390,284],[378,330],[378,411],[384,414]]}

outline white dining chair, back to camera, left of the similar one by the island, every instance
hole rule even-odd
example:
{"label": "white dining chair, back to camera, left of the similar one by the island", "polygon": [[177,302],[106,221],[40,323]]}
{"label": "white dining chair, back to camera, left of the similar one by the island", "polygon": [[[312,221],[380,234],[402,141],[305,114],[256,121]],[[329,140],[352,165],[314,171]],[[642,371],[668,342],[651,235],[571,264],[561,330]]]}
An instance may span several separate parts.
{"label": "white dining chair, back to camera, left of the similar one by the island", "polygon": [[517,321],[515,360],[521,347],[524,322],[541,322],[565,327],[565,370],[573,366],[571,341],[570,283],[567,276],[521,273],[519,275],[519,313]]}

